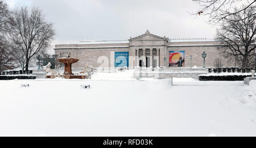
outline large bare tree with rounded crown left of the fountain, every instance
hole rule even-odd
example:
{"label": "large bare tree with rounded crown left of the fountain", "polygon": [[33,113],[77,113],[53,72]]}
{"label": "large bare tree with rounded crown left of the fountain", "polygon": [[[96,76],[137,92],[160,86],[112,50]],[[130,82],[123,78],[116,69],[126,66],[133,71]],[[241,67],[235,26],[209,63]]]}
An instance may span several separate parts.
{"label": "large bare tree with rounded crown left of the fountain", "polygon": [[28,72],[30,60],[42,50],[46,50],[55,32],[53,24],[47,23],[42,11],[21,7],[13,11],[10,19],[11,40],[24,55],[25,70]]}

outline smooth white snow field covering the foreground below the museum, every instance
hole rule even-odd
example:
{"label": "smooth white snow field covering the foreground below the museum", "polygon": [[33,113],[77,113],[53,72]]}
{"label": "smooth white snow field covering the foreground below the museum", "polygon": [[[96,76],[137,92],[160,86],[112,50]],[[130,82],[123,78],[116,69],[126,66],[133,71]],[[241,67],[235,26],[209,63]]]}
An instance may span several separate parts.
{"label": "smooth white snow field covering the foreground below the museum", "polygon": [[98,79],[0,81],[0,136],[256,136],[256,81]]}

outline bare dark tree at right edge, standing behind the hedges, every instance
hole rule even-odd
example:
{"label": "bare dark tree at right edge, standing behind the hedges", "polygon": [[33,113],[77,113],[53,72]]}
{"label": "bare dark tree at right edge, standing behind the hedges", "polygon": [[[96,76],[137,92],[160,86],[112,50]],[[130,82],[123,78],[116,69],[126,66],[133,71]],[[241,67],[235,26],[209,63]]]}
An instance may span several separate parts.
{"label": "bare dark tree at right edge, standing behind the hedges", "polygon": [[225,58],[236,62],[241,67],[252,67],[255,56],[256,15],[254,7],[242,10],[223,19],[217,28],[216,39],[220,41],[219,50]]}

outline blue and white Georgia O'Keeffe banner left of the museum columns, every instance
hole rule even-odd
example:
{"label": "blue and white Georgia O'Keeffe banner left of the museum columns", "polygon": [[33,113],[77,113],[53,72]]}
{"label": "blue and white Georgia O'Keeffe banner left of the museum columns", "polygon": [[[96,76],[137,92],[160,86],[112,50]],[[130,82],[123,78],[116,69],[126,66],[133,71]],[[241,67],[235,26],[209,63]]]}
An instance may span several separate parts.
{"label": "blue and white Georgia O'Keeffe banner left of the museum columns", "polygon": [[115,52],[115,67],[129,66],[129,52]]}

